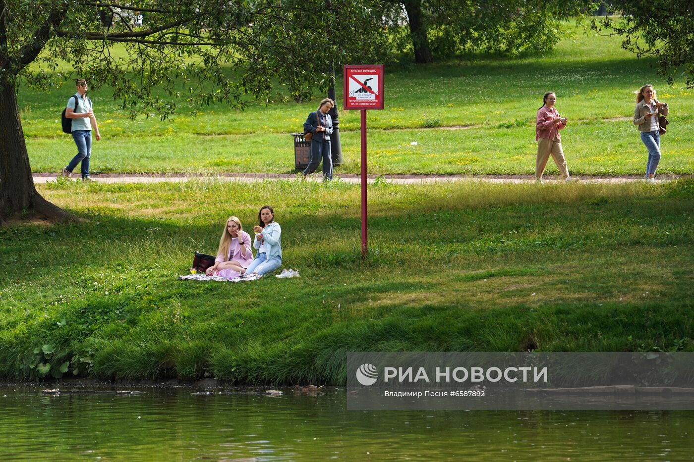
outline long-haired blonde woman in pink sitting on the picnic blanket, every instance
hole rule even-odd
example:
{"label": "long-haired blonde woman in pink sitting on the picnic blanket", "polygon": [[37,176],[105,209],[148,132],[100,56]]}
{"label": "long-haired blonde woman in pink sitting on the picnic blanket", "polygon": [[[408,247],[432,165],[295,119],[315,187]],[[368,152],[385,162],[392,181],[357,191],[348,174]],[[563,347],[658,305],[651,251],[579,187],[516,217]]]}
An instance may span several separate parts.
{"label": "long-haired blonde woman in pink sitting on the picnic blanket", "polygon": [[219,250],[214,265],[205,271],[208,275],[220,275],[234,279],[243,274],[253,262],[251,236],[241,229],[241,221],[230,216],[219,239]]}

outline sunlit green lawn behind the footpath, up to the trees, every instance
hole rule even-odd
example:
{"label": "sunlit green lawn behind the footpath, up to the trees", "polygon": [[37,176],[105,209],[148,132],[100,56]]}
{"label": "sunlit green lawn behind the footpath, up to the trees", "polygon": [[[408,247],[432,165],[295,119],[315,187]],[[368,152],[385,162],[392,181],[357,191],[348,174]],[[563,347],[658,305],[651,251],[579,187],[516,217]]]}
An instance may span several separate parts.
{"label": "sunlit green lawn behind the footpath, up to the trees", "polygon": [[[477,55],[388,68],[386,107],[368,114],[369,172],[532,173],[534,118],[543,93],[552,90],[559,112],[570,118],[562,137],[573,174],[641,174],[647,153],[630,119],[634,91],[653,83],[659,99],[669,103],[672,121],[662,139],[659,173],[693,173],[694,90],[681,83],[666,85],[654,75],[653,60],[638,60],[620,49],[618,38],[567,28],[572,37],[545,55]],[[49,94],[22,89],[19,94],[34,171],[57,172],[74,155],[59,121],[73,88]],[[95,90],[91,97],[103,135],[94,147],[92,169],[101,172],[287,173],[294,170],[287,133],[301,131],[319,101],[316,96],[310,102],[251,105],[245,111],[183,103],[175,119],[162,122],[127,119],[108,89]],[[193,110],[201,114],[191,117]],[[628,120],[613,120],[618,117]],[[337,173],[357,173],[359,114],[342,111],[340,121],[344,165]],[[442,128],[451,126],[473,128]]]}

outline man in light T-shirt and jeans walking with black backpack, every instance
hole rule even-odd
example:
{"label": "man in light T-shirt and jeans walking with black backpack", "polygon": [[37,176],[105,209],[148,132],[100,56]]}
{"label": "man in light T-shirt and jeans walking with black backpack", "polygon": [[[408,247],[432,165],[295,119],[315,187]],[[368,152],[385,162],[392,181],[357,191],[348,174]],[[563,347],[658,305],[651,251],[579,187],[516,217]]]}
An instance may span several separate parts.
{"label": "man in light T-shirt and jeans walking with black backpack", "polygon": [[72,158],[66,167],[63,167],[61,176],[70,178],[77,164],[82,162],[82,181],[92,181],[89,177],[89,161],[92,155],[92,129],[96,132],[96,141],[101,139],[99,126],[96,125],[96,117],[92,110],[92,101],[87,98],[87,80],[78,78],[75,80],[77,93],[67,101],[65,117],[72,119],[72,139],[77,145],[77,155]]}

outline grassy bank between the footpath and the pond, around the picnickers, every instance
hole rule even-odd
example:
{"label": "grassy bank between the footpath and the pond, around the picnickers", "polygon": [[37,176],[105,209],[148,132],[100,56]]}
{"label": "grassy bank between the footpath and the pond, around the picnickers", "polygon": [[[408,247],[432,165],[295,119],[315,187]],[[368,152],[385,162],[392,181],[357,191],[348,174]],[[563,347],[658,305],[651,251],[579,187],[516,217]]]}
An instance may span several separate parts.
{"label": "grassy bank between the footpath and the pond, around the picnickers", "polygon": [[[693,183],[47,185],[0,230],[0,376],[344,383],[348,351],[694,350]],[[301,277],[179,282],[276,207]],[[62,371],[61,371],[62,370]]]}

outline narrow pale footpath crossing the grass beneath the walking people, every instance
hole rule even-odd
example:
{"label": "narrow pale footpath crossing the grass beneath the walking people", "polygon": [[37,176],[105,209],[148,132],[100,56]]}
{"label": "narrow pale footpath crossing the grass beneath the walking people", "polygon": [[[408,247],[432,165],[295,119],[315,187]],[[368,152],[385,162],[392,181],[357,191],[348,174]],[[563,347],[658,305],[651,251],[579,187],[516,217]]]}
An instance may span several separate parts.
{"label": "narrow pale footpath crossing the grass beneath the walking people", "polygon": [[[46,183],[55,181],[58,175],[56,173],[34,173],[33,178],[35,183]],[[341,181],[348,183],[359,183],[359,175],[346,173],[336,176]],[[663,175],[659,176],[657,182],[676,180],[682,178],[682,175]],[[369,175],[368,181],[373,183],[377,175]],[[417,185],[432,182],[447,182],[447,181],[486,181],[494,183],[525,183],[532,182],[532,175],[384,175],[384,180],[400,185]],[[581,182],[591,183],[626,183],[643,181],[642,176],[582,176],[575,177]],[[189,180],[203,181],[237,181],[237,182],[259,182],[263,180],[297,180],[301,178],[297,174],[287,173],[219,173],[217,175],[210,174],[183,174],[183,173],[104,173],[102,175],[92,175],[92,179],[101,183],[160,183],[160,182],[184,182]],[[78,178],[73,178],[78,181]],[[314,173],[309,178],[310,181],[320,181],[321,176]],[[545,182],[561,182],[558,176],[545,176]]]}

